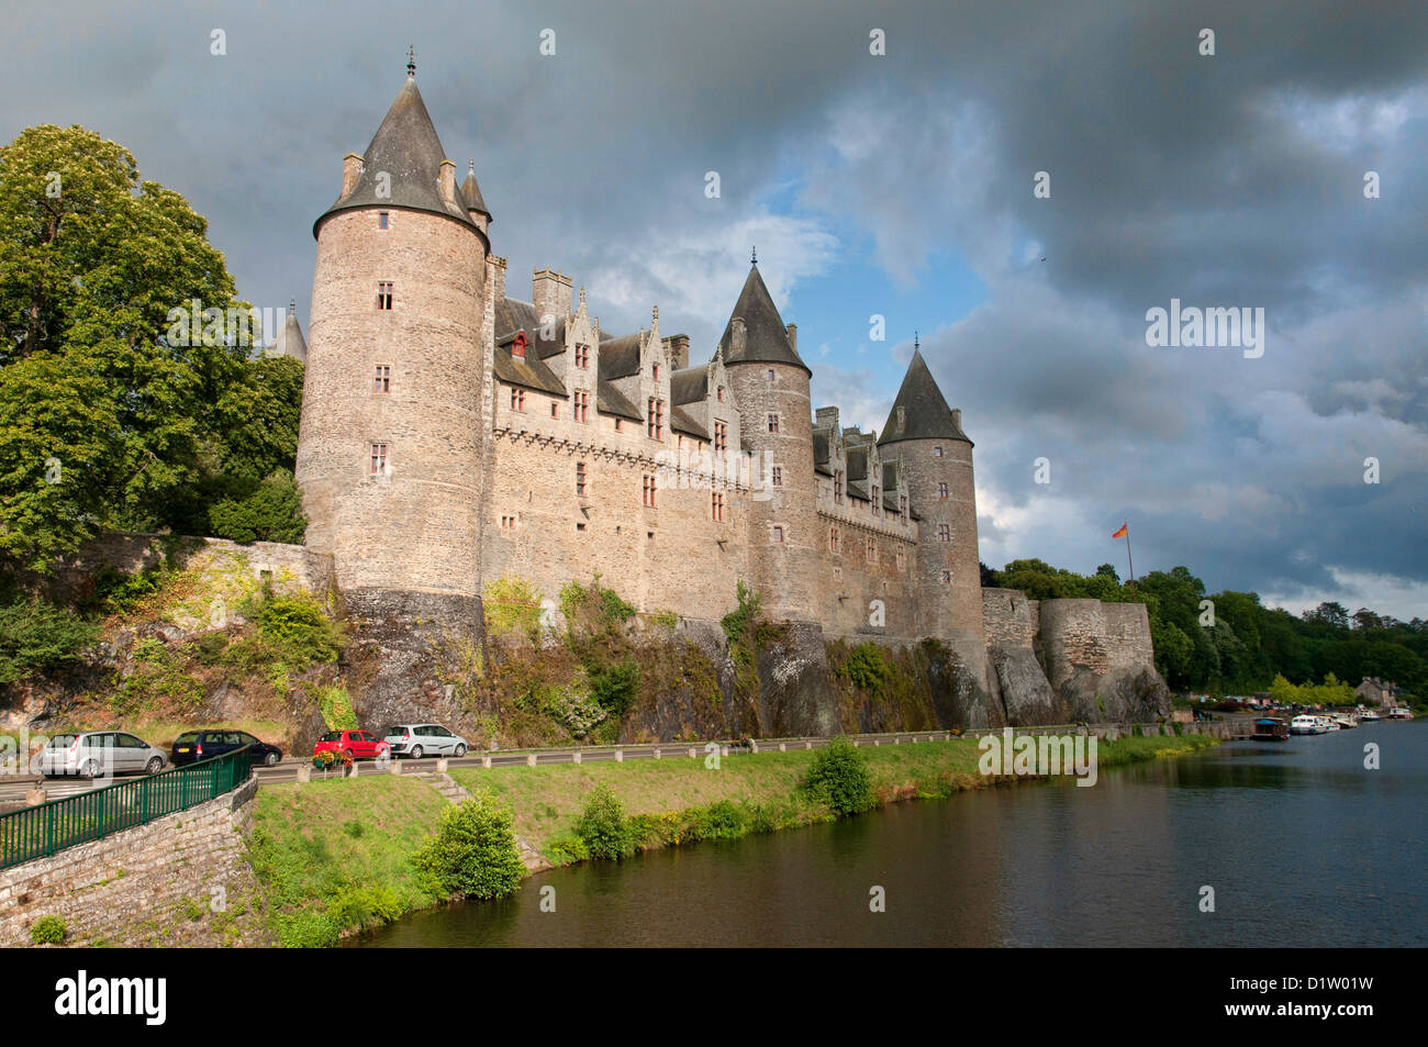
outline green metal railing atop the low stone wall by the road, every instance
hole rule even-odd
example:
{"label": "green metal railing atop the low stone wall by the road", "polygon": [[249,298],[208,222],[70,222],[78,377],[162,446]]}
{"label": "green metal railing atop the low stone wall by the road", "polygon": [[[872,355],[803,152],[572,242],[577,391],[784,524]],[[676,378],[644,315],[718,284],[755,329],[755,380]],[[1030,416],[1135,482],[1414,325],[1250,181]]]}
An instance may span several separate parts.
{"label": "green metal railing atop the low stone wall by the road", "polygon": [[187,767],[0,814],[0,868],[44,858],[214,800],[247,781],[253,763],[250,748],[244,747]]}

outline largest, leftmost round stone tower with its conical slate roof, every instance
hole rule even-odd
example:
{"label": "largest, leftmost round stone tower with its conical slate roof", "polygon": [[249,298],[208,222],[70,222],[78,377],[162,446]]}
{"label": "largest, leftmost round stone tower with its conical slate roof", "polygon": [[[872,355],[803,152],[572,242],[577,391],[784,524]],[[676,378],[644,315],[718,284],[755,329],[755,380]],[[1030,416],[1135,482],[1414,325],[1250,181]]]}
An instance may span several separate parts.
{"label": "largest, leftmost round stone tower with its conical slate roof", "polygon": [[[473,180],[474,184],[474,180]],[[414,63],[341,194],[317,264],[297,447],[307,544],[351,611],[478,623],[484,231]],[[450,618],[448,618],[450,620]]]}

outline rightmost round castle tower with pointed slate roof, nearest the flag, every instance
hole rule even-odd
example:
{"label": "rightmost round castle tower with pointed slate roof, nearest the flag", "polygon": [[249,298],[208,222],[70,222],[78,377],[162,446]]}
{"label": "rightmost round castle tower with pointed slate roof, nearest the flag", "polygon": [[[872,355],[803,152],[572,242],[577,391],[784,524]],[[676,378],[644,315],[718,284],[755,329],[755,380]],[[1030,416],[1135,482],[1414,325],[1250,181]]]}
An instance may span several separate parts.
{"label": "rightmost round castle tower with pointed slate roof, nearest the flag", "polygon": [[982,624],[981,568],[977,558],[977,487],[972,441],[961,411],[951,410],[914,346],[878,451],[897,460],[898,484],[920,517],[917,598],[921,631],[945,643],[967,670],[972,727],[987,726],[987,631]]}

